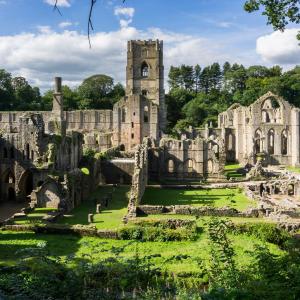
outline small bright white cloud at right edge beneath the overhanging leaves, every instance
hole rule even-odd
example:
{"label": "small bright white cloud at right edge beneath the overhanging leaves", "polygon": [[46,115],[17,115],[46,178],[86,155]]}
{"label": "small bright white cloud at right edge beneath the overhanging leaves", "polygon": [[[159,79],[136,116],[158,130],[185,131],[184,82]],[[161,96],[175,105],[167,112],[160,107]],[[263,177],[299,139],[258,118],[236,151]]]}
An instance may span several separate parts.
{"label": "small bright white cloud at right edge beneath the overhanging leaves", "polygon": [[292,65],[300,63],[299,29],[286,29],[264,35],[256,41],[256,52],[265,62]]}

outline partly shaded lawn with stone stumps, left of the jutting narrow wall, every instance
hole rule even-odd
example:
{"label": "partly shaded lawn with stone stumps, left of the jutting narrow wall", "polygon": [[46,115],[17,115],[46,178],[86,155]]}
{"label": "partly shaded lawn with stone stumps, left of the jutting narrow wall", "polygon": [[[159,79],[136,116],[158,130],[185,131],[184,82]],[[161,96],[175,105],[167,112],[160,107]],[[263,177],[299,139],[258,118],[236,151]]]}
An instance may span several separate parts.
{"label": "partly shaded lawn with stone stumps, left of the jutting narrow wall", "polygon": [[[88,214],[94,214],[94,225],[99,229],[115,229],[122,225],[122,218],[127,212],[127,192],[129,186],[112,186],[99,187],[89,198],[73,209],[69,214],[58,220],[60,224],[88,224]],[[100,200],[105,194],[113,192],[113,199],[109,202],[108,207],[102,207],[102,212],[96,214],[96,205],[94,199]]]}

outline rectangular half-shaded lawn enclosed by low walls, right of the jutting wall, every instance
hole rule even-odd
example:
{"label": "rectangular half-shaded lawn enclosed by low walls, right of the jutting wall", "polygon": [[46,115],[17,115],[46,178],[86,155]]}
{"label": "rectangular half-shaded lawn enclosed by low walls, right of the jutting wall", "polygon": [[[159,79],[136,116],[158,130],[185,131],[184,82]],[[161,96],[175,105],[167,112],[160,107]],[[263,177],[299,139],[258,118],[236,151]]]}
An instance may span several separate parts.
{"label": "rectangular half-shaded lawn enclosed by low walls, right of the jutting wall", "polygon": [[245,210],[256,207],[256,202],[248,199],[238,189],[171,189],[147,187],[142,204],[150,205],[193,205],[232,207]]}

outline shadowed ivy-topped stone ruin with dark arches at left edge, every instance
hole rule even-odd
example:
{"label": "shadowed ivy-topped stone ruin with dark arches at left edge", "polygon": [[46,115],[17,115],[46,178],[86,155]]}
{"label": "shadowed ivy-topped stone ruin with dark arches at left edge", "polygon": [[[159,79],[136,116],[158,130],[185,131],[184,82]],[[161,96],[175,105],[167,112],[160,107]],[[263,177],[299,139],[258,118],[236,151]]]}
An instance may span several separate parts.
{"label": "shadowed ivy-topped stone ruin with dark arches at left edge", "polygon": [[[47,134],[43,115],[37,112],[22,113],[15,122],[18,126],[6,127],[0,137],[0,200],[57,207],[65,199],[58,195],[64,190],[64,176],[78,168],[82,136]],[[49,188],[53,174],[60,186],[57,191]]]}

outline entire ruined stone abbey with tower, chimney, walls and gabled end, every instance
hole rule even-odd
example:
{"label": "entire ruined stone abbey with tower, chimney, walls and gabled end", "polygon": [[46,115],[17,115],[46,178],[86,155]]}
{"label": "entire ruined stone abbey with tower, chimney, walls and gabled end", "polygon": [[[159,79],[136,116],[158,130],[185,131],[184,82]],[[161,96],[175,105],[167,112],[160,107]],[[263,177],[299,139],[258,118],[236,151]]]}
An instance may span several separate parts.
{"label": "entire ruined stone abbey with tower, chimney, walls and gabled end", "polygon": [[[272,93],[232,105],[217,128],[166,135],[162,41],[128,42],[126,95],[113,110],[63,111],[61,85],[55,78],[52,111],[0,112],[1,202],[70,210],[93,186],[132,183],[134,214],[148,180],[226,181],[226,162],[251,168],[261,158],[263,166],[300,165],[300,110]],[[85,164],[84,149],[103,155]]]}

